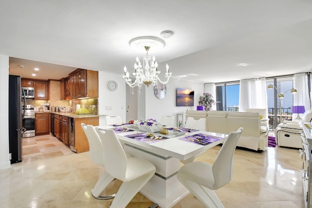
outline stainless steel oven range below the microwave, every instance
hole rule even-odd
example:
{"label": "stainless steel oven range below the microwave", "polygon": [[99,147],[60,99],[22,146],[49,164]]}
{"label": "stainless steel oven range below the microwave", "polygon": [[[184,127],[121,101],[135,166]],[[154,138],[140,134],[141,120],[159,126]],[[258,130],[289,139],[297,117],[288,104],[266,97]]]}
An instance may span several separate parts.
{"label": "stainless steel oven range below the microwave", "polygon": [[23,106],[23,128],[25,131],[22,132],[22,137],[33,137],[35,136],[35,111],[34,106],[26,105]]}

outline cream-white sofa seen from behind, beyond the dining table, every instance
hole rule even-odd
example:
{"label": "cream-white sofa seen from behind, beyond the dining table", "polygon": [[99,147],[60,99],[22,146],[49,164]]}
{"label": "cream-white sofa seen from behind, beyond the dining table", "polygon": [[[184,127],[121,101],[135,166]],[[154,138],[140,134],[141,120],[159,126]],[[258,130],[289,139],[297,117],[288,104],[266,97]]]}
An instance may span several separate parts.
{"label": "cream-white sofa seen from behind, beyond the dining table", "polygon": [[254,151],[264,151],[268,147],[269,128],[260,125],[259,113],[226,111],[187,111],[186,118],[206,117],[206,131],[230,133],[243,127],[244,131],[237,146]]}

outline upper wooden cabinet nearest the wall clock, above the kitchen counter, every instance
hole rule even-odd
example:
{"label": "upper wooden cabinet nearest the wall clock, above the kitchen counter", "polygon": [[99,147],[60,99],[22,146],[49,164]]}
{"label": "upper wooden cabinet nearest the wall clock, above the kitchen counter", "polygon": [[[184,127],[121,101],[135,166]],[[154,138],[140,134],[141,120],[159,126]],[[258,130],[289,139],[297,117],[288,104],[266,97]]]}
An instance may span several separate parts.
{"label": "upper wooden cabinet nearest the wall clock, above the kitchen counter", "polygon": [[98,72],[77,69],[70,74],[71,98],[98,98]]}

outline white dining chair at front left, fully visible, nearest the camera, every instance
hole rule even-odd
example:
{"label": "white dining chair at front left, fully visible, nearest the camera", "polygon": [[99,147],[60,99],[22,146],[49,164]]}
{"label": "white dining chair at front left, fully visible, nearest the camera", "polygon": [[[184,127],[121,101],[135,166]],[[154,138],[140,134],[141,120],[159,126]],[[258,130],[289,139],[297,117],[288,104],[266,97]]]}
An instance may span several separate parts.
{"label": "white dining chair at front left, fully visible, nearest the camera", "polygon": [[137,192],[152,178],[155,166],[138,157],[127,158],[114,130],[96,128],[104,147],[105,170],[123,183],[110,208],[125,208]]}

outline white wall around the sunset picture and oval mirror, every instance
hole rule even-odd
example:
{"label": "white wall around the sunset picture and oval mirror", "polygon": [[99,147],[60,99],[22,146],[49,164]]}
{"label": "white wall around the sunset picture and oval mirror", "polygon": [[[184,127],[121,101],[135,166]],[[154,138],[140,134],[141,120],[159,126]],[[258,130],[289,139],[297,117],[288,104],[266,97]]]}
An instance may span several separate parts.
{"label": "white wall around the sunset picture and oval mirror", "polygon": [[[204,85],[171,77],[167,85],[167,95],[158,99],[154,95],[153,87],[145,87],[145,118],[153,118],[160,121],[162,115],[176,116],[176,113],[183,113],[186,110],[196,110],[199,96],[204,93]],[[194,107],[176,106],[176,88],[194,90]],[[139,95],[140,96],[140,95]],[[176,121],[175,121],[176,123]]]}

